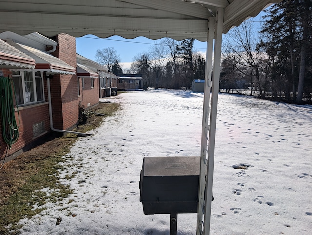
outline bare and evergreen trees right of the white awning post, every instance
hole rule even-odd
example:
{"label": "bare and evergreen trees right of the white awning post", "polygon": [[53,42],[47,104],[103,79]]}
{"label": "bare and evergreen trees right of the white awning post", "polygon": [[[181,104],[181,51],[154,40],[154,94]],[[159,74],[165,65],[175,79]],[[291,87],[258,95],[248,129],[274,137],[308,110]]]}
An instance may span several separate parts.
{"label": "bare and evergreen trees right of the white awning post", "polygon": [[264,10],[260,32],[252,21],[232,29],[223,45],[221,91],[311,102],[311,10],[311,0],[284,0]]}

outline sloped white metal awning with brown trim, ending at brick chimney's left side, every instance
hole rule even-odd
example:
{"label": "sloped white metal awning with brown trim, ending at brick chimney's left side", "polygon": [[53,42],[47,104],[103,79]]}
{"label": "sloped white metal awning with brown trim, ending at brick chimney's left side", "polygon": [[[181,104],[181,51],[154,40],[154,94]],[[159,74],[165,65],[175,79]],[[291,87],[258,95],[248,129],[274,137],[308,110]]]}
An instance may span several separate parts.
{"label": "sloped white metal awning with brown trim, ending at brick chimney's left side", "polygon": [[58,74],[76,74],[76,69],[74,67],[45,51],[16,43],[10,39],[8,39],[7,42],[29,57],[35,59],[35,69]]}

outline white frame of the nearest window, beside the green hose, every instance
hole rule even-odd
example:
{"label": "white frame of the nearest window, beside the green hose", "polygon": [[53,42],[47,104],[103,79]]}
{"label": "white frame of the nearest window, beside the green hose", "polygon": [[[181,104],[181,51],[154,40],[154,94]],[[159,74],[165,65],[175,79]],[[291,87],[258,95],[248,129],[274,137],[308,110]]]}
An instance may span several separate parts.
{"label": "white frame of the nearest window, beside the green hose", "polygon": [[[11,69],[11,71],[14,72],[20,72],[20,75],[14,75],[12,74],[12,77],[19,77],[19,79],[21,79],[21,89],[22,89],[22,93],[23,93],[23,100],[22,103],[18,103],[19,106],[21,105],[31,105],[34,103],[39,103],[39,102],[44,102],[45,101],[45,95],[44,95],[44,83],[43,83],[43,75],[42,75],[42,71],[40,70],[20,70],[20,69]],[[24,72],[29,72],[32,75],[32,89],[33,89],[33,99],[32,101],[27,101],[26,98],[26,86],[25,86],[25,75]],[[40,72],[40,76],[35,76],[35,72]],[[37,86],[36,86],[36,78],[41,78],[41,87],[39,89],[41,89],[42,92],[42,98],[43,100],[37,100]]]}

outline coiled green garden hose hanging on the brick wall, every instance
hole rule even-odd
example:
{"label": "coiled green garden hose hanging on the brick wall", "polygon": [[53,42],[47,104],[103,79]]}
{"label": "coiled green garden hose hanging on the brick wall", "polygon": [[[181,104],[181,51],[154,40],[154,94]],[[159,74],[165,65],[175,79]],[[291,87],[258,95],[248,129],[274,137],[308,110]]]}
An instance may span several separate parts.
{"label": "coiled green garden hose hanging on the brick wall", "polygon": [[[0,77],[0,109],[1,109],[1,119],[2,119],[2,136],[4,142],[8,145],[8,149],[11,149],[12,144],[14,144],[19,138],[19,127],[20,127],[20,114],[18,109],[19,125],[17,125],[15,114],[14,114],[14,100],[13,91],[14,83],[12,78]],[[15,92],[14,92],[15,95]]]}

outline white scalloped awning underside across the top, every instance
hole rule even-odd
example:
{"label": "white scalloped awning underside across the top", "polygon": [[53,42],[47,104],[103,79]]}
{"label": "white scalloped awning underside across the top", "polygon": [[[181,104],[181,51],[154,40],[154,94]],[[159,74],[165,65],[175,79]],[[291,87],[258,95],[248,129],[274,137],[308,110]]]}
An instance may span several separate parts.
{"label": "white scalloped awning underside across the top", "polygon": [[1,0],[0,32],[101,38],[207,40],[209,17],[224,8],[223,33],[281,0]]}

